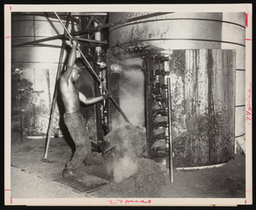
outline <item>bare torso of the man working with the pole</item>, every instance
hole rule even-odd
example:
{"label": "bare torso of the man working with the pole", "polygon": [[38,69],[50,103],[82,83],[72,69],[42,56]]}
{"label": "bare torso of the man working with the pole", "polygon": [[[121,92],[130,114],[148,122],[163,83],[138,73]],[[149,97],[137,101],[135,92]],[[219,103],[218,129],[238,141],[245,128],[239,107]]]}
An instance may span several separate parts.
{"label": "bare torso of the man working with the pole", "polygon": [[71,113],[74,111],[79,111],[79,91],[77,88],[75,88],[70,78],[65,80],[61,77],[60,90],[61,99],[63,100],[63,103],[65,105],[65,112]]}

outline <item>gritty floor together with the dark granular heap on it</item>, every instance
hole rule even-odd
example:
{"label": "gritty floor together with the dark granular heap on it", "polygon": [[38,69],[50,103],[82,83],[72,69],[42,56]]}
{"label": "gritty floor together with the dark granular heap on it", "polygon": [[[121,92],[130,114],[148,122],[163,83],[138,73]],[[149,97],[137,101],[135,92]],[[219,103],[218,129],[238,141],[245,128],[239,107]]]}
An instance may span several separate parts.
{"label": "gritty floor together with the dark granular heap on it", "polygon": [[235,160],[227,162],[223,167],[197,171],[177,170],[172,184],[166,165],[146,158],[137,160],[137,173],[119,183],[111,178],[107,163],[90,167],[83,165],[78,170],[83,175],[83,179],[77,180],[81,184],[79,189],[78,183],[74,186],[54,181],[62,179],[62,170],[73,154],[66,139],[51,139],[48,158],[57,162],[48,163],[40,161],[44,156],[44,139],[24,138],[21,145],[19,137],[19,133],[12,133],[10,184],[13,198],[245,197],[245,156],[239,153]]}

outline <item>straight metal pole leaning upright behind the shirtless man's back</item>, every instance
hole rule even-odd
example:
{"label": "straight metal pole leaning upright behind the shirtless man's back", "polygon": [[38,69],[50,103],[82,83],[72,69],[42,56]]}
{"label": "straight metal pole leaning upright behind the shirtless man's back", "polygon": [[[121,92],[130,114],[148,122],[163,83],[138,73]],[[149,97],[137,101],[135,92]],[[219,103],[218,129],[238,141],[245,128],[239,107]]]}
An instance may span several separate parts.
{"label": "straight metal pole leaning upright behind the shirtless man's back", "polygon": [[[69,16],[67,16],[67,26],[68,26],[68,20],[69,20]],[[47,159],[48,150],[49,150],[49,140],[50,140],[50,133],[52,131],[52,124],[53,124],[53,118],[54,118],[53,116],[54,116],[56,99],[57,99],[57,83],[58,83],[58,80],[61,76],[61,61],[63,59],[65,46],[66,46],[66,43],[65,43],[65,41],[63,41],[62,48],[61,48],[61,55],[60,55],[60,60],[59,60],[58,71],[57,71],[56,80],[55,80],[55,92],[54,92],[53,102],[52,102],[52,105],[51,105],[50,116],[49,116],[50,117],[49,118],[49,128],[48,128],[48,133],[47,133],[46,146],[45,146],[45,150],[44,150],[44,158],[41,159],[41,162],[49,162],[49,160]]]}

